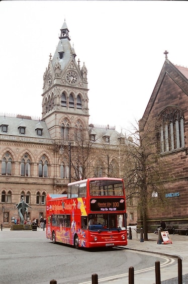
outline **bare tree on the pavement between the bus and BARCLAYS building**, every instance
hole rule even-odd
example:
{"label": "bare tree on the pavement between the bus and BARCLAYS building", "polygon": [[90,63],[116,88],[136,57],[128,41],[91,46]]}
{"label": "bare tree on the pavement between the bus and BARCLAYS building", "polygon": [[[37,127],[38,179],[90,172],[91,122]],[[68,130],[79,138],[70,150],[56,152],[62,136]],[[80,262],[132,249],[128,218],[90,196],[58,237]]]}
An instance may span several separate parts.
{"label": "bare tree on the pavement between the bus and BARCLAYS building", "polygon": [[138,211],[143,220],[144,240],[148,240],[147,210],[151,203],[164,203],[164,183],[161,171],[166,163],[156,151],[152,127],[139,132],[134,128],[125,147],[125,186],[129,197],[137,200]]}

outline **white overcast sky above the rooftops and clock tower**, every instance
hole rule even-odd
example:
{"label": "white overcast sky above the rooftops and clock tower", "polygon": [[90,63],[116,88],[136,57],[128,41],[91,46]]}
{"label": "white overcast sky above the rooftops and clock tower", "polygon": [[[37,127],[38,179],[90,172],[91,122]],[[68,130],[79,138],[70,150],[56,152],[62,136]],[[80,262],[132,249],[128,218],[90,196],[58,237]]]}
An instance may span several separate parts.
{"label": "white overcast sky above the rooftops and clock tower", "polygon": [[188,66],[186,1],[2,1],[2,114],[41,117],[43,74],[64,19],[87,68],[89,122],[131,128],[142,118],[165,55]]}

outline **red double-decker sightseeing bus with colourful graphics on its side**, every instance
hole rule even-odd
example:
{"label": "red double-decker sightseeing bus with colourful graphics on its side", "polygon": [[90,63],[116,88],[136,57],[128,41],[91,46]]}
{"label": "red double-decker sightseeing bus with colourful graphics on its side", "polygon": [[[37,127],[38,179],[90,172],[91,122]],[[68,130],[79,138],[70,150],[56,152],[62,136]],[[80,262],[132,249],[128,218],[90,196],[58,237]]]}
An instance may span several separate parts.
{"label": "red double-decker sightseeing bus with colourful graphics on its side", "polygon": [[67,195],[47,195],[46,237],[75,248],[125,246],[125,201],[121,178],[71,182]]}

